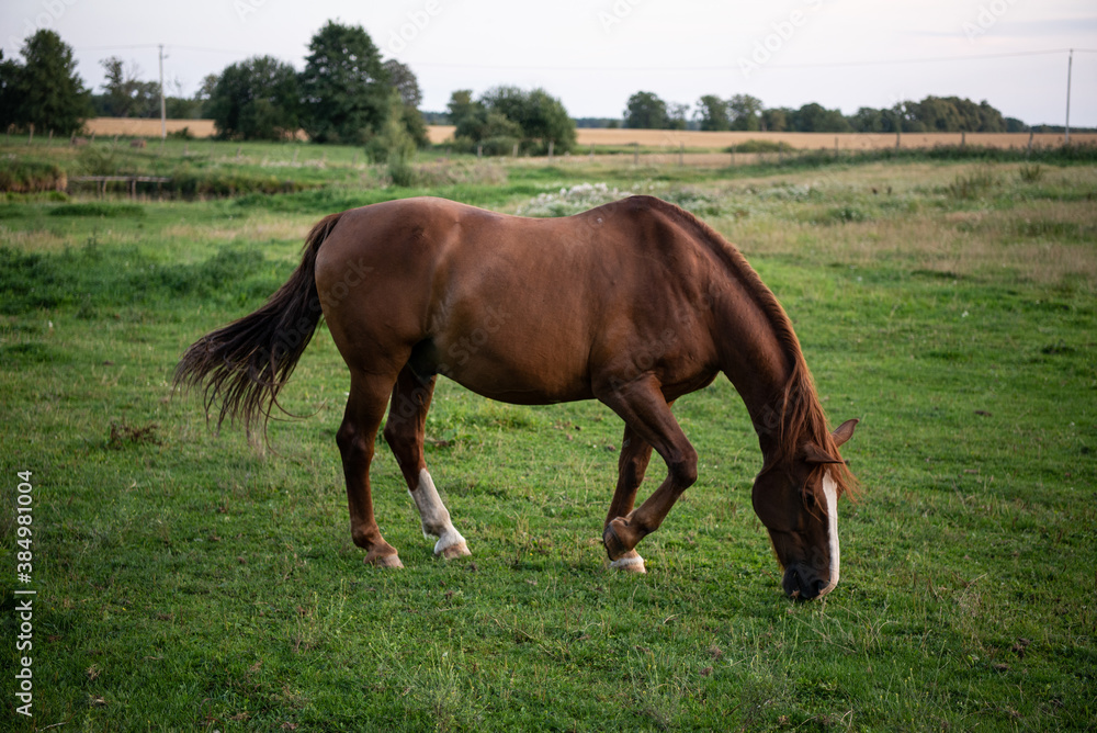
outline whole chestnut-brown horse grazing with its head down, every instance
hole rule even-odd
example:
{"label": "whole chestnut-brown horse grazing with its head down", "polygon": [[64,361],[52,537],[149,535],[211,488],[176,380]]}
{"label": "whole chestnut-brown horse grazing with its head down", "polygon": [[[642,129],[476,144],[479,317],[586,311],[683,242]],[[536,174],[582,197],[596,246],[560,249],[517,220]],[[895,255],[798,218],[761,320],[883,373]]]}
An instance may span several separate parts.
{"label": "whole chestnut-brown horse grazing with its head down", "polygon": [[[332,214],[270,301],[188,349],[176,380],[205,383],[220,420],[270,417],[321,316],[350,368],[337,442],[351,537],[365,562],[399,567],[373,516],[370,463],[385,440],[434,553],[468,554],[423,460],[438,374],[524,405],[597,398],[624,420],[602,541],[644,571],[636,544],[697,481],[697,452],[670,413],[723,372],[746,403],[765,463],[754,507],[787,594],[838,582],[837,500],[852,486],[788,316],[743,256],[682,210],[633,196],[576,216],[530,219],[440,199]],[[638,508],[652,449],[666,480]]]}

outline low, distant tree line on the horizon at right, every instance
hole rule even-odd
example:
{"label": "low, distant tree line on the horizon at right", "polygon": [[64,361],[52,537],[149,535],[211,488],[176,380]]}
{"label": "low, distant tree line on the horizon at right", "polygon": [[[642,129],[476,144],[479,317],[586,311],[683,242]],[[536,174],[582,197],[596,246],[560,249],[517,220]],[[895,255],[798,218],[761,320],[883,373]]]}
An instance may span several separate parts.
{"label": "low, distant tree line on the horizon at right", "polygon": [[629,98],[624,126],[643,129],[758,131],[795,133],[1018,133],[1029,129],[1006,117],[985,100],[926,97],[891,109],[862,106],[850,115],[810,102],[800,109],[767,108],[750,94],[722,99],[705,94],[693,105],[666,102],[653,92]]}

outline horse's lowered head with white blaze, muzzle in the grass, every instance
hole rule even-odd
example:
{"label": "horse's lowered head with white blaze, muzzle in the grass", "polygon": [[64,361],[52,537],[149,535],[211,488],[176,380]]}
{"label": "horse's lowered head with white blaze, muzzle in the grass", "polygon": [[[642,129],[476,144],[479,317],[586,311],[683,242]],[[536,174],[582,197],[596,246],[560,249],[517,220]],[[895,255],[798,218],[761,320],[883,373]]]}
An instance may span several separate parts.
{"label": "horse's lowered head with white blaze, muzzle in the grass", "polygon": [[755,512],[769,530],[784,570],[781,586],[792,598],[817,598],[838,583],[838,495],[848,474],[837,473],[846,469],[834,449],[849,440],[856,425],[842,422],[830,435],[829,449],[802,443],[755,480]]}

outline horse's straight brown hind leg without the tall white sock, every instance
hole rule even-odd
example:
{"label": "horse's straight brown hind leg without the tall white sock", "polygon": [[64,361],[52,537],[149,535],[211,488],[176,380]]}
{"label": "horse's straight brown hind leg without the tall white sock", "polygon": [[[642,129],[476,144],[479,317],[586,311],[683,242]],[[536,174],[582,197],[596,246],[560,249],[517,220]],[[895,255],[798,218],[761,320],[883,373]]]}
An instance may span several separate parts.
{"label": "horse's straight brown hind leg without the tall white sock", "polygon": [[347,477],[347,503],[350,506],[350,535],[354,544],[366,551],[365,563],[378,567],[403,567],[396,549],[385,542],[373,516],[370,494],[370,463],[374,440],[385,404],[392,390],[392,379],[351,373],[350,398],[342,425],[336,433]]}

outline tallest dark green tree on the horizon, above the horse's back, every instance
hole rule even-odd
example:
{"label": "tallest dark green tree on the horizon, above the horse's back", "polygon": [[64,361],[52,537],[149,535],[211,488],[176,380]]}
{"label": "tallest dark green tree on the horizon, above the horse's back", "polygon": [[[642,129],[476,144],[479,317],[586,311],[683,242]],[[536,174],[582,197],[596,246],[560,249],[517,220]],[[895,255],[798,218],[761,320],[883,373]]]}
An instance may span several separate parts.
{"label": "tallest dark green tree on the horizon, above the horse's back", "polygon": [[318,143],[364,143],[388,120],[381,53],[361,25],[328,21],[308,44],[301,74],[304,126]]}

